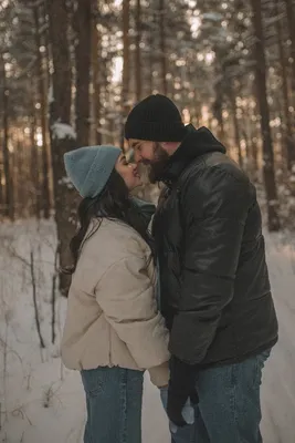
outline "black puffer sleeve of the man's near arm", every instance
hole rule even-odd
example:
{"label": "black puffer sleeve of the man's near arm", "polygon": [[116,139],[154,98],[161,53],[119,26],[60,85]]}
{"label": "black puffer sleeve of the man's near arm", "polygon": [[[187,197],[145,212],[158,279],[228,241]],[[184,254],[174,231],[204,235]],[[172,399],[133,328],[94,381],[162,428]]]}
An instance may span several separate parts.
{"label": "black puffer sleeve of the man's near arm", "polygon": [[181,299],[169,350],[183,362],[198,364],[233,297],[251,187],[246,177],[214,166],[198,179],[192,177],[186,189]]}

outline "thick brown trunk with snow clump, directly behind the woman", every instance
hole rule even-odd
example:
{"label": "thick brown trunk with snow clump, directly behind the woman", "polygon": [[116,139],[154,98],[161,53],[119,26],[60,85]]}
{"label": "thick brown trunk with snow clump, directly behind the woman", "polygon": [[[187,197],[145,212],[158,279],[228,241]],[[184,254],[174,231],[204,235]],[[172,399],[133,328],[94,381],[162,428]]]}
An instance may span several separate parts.
{"label": "thick brown trunk with snow clump, directly behind the woman", "polygon": [[[54,72],[52,74],[53,97],[50,110],[53,187],[55,220],[59,240],[59,260],[63,268],[72,262],[69,249],[75,231],[72,214],[75,212],[76,193],[65,178],[63,155],[76,147],[76,138],[71,127],[72,70],[67,41],[66,0],[49,0],[50,40]],[[61,275],[60,290],[67,295],[70,277]]]}

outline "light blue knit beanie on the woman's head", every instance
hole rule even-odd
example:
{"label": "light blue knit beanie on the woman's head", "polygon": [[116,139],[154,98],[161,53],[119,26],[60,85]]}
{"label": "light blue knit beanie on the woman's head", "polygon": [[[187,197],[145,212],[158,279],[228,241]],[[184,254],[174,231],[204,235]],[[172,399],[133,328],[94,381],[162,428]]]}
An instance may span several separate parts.
{"label": "light blue knit beanie on the woman's head", "polygon": [[122,150],[86,146],[64,154],[65,171],[82,197],[96,197],[105,187]]}

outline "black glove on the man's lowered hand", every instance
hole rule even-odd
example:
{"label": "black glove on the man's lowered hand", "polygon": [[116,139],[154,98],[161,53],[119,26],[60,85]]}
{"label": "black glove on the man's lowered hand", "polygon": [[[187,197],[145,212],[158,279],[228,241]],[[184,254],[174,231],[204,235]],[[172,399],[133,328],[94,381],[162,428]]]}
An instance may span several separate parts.
{"label": "black glove on the man's lowered hand", "polygon": [[182,416],[182,409],[187,400],[190,398],[193,404],[199,402],[196,381],[197,367],[185,363],[172,356],[170,360],[167,414],[169,420],[178,427],[187,424]]}

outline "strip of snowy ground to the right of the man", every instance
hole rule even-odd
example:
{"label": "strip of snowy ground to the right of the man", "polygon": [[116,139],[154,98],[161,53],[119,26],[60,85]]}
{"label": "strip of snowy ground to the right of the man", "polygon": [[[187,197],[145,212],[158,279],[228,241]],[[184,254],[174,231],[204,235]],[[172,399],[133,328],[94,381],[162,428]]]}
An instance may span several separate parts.
{"label": "strip of snowy ground to the right of the man", "polygon": [[280,342],[265,369],[265,443],[295,442],[295,250],[267,237],[267,259],[280,322]]}

